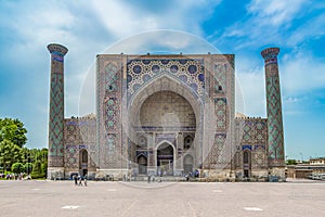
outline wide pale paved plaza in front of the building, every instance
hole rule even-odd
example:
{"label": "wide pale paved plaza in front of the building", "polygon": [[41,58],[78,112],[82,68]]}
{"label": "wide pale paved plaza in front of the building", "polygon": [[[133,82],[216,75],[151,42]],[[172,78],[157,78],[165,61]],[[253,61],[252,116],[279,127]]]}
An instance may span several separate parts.
{"label": "wide pale paved plaza in front of the building", "polygon": [[325,216],[325,182],[0,181],[0,216]]}

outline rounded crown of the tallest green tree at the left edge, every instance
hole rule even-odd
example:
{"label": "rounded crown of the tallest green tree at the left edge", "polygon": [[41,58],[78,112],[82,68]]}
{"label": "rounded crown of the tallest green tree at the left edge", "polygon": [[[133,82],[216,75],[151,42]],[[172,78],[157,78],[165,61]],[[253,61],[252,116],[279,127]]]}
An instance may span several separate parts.
{"label": "rounded crown of the tallest green tree at the left edge", "polygon": [[21,120],[0,118],[0,142],[8,140],[22,148],[27,142],[26,133],[27,130]]}

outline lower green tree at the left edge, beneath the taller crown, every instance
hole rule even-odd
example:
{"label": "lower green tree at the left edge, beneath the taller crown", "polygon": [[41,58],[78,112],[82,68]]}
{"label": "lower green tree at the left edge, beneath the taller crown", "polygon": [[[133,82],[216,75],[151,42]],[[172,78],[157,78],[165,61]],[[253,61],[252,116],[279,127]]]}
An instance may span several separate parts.
{"label": "lower green tree at the left edge, beneath the taller crown", "polygon": [[6,139],[0,142],[0,166],[10,170],[11,166],[14,163],[21,162],[21,159],[22,154],[18,145]]}

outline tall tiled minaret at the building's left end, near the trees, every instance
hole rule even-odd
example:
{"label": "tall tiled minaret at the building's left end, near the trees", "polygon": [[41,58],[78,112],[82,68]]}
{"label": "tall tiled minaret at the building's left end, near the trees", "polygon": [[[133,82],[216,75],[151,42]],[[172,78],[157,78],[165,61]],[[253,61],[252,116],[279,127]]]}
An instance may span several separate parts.
{"label": "tall tiled minaret at the building's left end, near the trees", "polygon": [[50,43],[51,87],[49,117],[49,163],[48,179],[64,178],[64,55],[68,49]]}

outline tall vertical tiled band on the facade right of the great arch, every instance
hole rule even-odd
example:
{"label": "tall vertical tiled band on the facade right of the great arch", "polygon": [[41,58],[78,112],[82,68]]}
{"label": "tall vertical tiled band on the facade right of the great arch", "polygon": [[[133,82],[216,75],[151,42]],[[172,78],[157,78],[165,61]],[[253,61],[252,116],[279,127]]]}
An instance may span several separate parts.
{"label": "tall vertical tiled band on the facade right of the great arch", "polygon": [[[232,161],[232,144],[234,143],[234,55],[211,56],[206,66],[206,89],[213,100],[214,141],[208,163],[217,165],[219,169],[230,169]],[[224,141],[221,141],[223,137]],[[208,166],[208,165],[207,165]],[[209,166],[208,166],[209,167]]]}

